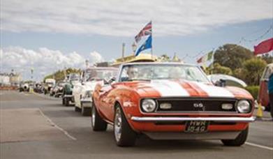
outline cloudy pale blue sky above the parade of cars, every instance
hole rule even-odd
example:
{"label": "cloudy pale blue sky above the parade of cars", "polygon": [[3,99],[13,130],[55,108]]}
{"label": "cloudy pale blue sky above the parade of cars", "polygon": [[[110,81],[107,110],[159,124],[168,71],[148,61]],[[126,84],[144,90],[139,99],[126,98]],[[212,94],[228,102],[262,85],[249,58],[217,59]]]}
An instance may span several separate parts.
{"label": "cloudy pale blue sky above the parade of cars", "polygon": [[[1,73],[43,79],[126,55],[152,20],[153,53],[186,63],[226,43],[253,50],[273,37],[273,0],[1,0]],[[242,40],[243,39],[243,40]],[[141,44],[139,44],[141,45]],[[150,50],[146,51],[147,53]]]}

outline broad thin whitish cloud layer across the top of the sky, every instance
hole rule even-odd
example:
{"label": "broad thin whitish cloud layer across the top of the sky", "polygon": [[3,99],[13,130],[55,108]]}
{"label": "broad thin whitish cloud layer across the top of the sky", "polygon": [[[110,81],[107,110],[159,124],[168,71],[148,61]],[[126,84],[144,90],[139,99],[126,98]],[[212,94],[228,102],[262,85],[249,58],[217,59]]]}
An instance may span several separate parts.
{"label": "broad thin whitish cloud layer across the top of the sky", "polygon": [[1,29],[135,36],[149,20],[155,35],[186,35],[272,18],[272,0],[2,0]]}

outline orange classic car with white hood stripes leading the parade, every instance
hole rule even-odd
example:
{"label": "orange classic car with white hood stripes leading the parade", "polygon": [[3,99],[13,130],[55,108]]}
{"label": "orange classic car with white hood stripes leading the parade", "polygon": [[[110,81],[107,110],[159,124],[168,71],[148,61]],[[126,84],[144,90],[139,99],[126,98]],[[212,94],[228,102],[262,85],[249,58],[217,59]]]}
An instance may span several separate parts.
{"label": "orange classic car with white hood stripes leading the parade", "polygon": [[133,146],[138,135],[152,139],[246,141],[255,120],[251,94],[214,86],[198,66],[182,63],[126,63],[110,82],[97,84],[91,126],[114,126],[118,146]]}

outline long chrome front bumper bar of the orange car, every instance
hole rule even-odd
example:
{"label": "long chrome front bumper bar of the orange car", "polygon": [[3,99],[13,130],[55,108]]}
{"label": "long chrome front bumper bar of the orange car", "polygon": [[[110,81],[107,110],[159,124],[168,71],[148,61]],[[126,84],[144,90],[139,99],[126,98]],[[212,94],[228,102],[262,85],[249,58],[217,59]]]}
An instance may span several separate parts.
{"label": "long chrome front bumper bar of the orange car", "polygon": [[219,121],[219,122],[243,122],[243,123],[250,123],[255,121],[256,117],[138,117],[132,116],[132,121],[137,122],[174,122],[174,121]]}

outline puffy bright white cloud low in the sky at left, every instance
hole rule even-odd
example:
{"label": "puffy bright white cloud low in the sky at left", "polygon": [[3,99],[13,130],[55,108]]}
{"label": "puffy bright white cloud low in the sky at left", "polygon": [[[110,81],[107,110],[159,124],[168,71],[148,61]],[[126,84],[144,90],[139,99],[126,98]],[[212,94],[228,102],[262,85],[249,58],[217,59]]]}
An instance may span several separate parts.
{"label": "puffy bright white cloud low in the sky at left", "polygon": [[36,79],[42,79],[44,75],[69,67],[84,68],[85,60],[91,59],[91,63],[103,61],[98,52],[91,52],[89,56],[82,56],[77,52],[64,54],[59,50],[49,50],[45,47],[35,50],[27,50],[23,47],[4,47],[0,49],[1,72],[21,73],[24,79],[29,79],[30,69],[34,68]]}

